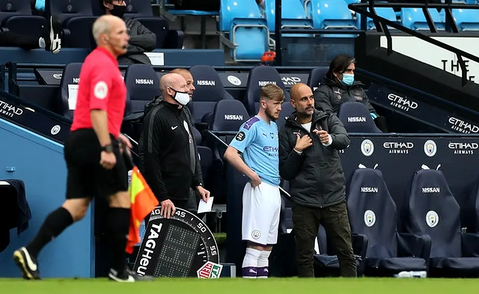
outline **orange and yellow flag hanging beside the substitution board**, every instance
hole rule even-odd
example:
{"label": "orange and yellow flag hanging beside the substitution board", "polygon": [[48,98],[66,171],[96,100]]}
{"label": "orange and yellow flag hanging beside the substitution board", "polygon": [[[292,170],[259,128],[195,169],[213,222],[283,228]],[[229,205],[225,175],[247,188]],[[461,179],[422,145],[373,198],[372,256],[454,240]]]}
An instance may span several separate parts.
{"label": "orange and yellow flag hanging beside the substitution board", "polygon": [[133,246],[140,242],[141,221],[158,206],[159,202],[137,167],[133,168],[128,192],[131,196],[131,218],[128,239],[126,241],[126,252],[131,254]]}

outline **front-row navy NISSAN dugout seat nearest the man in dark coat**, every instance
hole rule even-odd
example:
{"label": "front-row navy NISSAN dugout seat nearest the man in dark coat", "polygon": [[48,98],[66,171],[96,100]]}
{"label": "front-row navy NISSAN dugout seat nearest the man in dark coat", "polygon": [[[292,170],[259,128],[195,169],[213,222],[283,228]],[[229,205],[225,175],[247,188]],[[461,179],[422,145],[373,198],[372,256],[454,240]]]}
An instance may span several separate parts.
{"label": "front-row navy NISSAN dugout seat nearest the man in dark coat", "polygon": [[351,231],[368,237],[366,275],[392,276],[403,270],[428,269],[430,237],[398,233],[396,204],[382,172],[354,172],[349,185],[348,214]]}

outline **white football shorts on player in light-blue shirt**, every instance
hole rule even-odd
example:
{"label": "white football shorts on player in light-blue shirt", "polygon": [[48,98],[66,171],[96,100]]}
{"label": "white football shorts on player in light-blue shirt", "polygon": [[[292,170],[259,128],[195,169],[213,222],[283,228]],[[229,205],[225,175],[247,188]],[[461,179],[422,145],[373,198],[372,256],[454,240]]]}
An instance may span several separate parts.
{"label": "white football shorts on player in light-blue shirt", "polygon": [[243,240],[261,245],[277,243],[281,196],[279,188],[265,182],[251,187],[248,182],[243,190]]}

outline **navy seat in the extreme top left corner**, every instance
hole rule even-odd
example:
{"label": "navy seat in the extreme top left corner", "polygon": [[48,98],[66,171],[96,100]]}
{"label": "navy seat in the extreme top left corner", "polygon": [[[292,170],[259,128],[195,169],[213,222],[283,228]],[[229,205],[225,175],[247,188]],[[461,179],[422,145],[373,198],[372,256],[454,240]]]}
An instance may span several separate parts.
{"label": "navy seat in the extreme top left corner", "polygon": [[47,20],[31,14],[30,0],[0,0],[0,28],[40,37]]}

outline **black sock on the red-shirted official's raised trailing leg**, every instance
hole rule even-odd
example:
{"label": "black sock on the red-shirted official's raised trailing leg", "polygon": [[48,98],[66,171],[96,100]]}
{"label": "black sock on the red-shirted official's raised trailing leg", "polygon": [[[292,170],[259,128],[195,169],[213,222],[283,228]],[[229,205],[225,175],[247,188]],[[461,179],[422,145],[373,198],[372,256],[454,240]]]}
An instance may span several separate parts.
{"label": "black sock on the red-shirted official's raised trailing leg", "polygon": [[73,217],[68,210],[63,207],[52,211],[33,240],[26,245],[26,249],[34,258],[37,258],[40,250],[51,240],[55,239],[64,229],[73,223]]}

